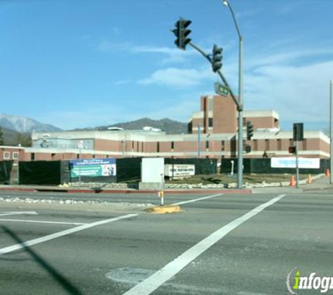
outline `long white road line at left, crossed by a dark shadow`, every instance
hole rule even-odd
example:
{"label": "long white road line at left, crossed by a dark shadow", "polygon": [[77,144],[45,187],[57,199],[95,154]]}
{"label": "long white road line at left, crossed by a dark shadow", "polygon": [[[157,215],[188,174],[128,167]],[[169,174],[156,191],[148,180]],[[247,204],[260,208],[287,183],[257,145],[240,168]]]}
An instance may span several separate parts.
{"label": "long white road line at left, crossed by a dark shadow", "polygon": [[122,215],[119,217],[114,217],[114,218],[110,218],[108,220],[100,220],[98,222],[93,222],[90,224],[83,224],[80,226],[76,226],[73,229],[66,229],[64,231],[59,231],[57,233],[51,233],[48,236],[43,236],[41,238],[34,238],[33,240],[27,240],[24,243],[20,243],[20,244],[16,244],[16,245],[12,245],[9,247],[4,247],[2,249],[0,249],[0,256],[9,252],[13,252],[15,250],[20,250],[24,247],[29,247],[32,245],[36,245],[39,243],[43,243],[46,242],[48,240],[53,240],[54,238],[60,238],[62,236],[66,236],[69,235],[70,233],[76,233],[77,231],[83,231],[84,229],[90,229],[93,226],[98,226],[98,225],[102,225],[102,224],[107,224],[109,222],[116,222],[118,220],[125,220],[126,218],[130,218],[130,217],[135,217],[139,214],[128,214],[128,215]]}

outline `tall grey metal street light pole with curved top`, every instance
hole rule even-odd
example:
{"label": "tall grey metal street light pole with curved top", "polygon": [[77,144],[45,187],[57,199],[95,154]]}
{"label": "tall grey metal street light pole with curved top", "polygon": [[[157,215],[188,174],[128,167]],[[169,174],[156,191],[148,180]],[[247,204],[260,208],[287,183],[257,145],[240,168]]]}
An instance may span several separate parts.
{"label": "tall grey metal street light pole with curved top", "polygon": [[238,165],[237,165],[237,187],[243,187],[243,36],[236,21],[235,14],[229,0],[224,0],[223,5],[229,7],[233,22],[235,23],[239,38],[239,64],[238,64]]}

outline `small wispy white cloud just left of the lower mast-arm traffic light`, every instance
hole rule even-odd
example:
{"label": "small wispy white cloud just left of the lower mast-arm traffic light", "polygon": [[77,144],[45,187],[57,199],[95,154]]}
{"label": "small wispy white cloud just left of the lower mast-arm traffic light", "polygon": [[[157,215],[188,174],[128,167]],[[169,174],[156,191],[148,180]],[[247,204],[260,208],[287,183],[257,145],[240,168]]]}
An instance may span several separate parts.
{"label": "small wispy white cloud just left of the lower mast-arm traffic light", "polygon": [[204,80],[214,78],[208,69],[176,69],[157,70],[149,78],[139,80],[142,85],[165,85],[169,87],[191,87],[203,84]]}

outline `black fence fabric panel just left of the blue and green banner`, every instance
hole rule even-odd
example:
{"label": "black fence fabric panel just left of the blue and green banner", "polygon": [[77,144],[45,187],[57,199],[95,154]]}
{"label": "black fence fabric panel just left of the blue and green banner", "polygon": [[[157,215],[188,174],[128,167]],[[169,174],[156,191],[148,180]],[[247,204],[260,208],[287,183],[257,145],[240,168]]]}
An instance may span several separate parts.
{"label": "black fence fabric panel just left of the blue and green banner", "polygon": [[20,161],[20,185],[60,185],[60,161]]}

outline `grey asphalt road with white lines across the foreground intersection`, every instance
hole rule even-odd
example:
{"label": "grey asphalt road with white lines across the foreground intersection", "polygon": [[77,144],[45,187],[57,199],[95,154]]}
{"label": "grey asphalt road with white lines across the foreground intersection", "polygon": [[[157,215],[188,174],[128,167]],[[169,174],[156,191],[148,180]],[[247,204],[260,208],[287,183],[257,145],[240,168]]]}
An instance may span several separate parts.
{"label": "grey asphalt road with white lines across the foreground intersection", "polygon": [[[2,201],[0,294],[281,295],[295,267],[333,276],[332,192],[209,196],[166,196],[198,201],[165,215]],[[102,198],[158,203],[154,195]]]}

